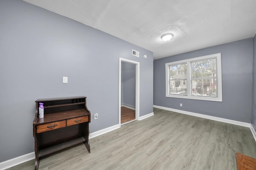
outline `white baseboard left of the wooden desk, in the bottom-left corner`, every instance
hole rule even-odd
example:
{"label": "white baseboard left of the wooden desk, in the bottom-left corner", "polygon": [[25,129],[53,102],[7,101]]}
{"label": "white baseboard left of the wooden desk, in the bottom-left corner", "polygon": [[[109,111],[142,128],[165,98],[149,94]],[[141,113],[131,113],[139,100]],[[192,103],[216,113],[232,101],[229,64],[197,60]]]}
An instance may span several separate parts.
{"label": "white baseboard left of the wooden desk, in the bottom-left corner", "polygon": [[18,156],[13,159],[6,160],[4,162],[0,162],[0,170],[5,170],[7,168],[11,168],[13,166],[22,164],[22,163],[32,160],[34,158],[35,158],[35,152],[31,152],[28,154],[24,154],[22,156]]}

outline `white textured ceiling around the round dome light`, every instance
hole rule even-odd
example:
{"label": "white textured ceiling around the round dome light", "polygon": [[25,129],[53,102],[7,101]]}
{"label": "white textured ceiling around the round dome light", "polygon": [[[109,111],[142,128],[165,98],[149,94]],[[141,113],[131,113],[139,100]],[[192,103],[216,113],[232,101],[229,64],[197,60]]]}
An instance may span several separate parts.
{"label": "white textured ceiling around the round dome light", "polygon": [[[256,0],[24,1],[152,51],[154,59],[256,33]],[[164,33],[174,37],[162,41]]]}

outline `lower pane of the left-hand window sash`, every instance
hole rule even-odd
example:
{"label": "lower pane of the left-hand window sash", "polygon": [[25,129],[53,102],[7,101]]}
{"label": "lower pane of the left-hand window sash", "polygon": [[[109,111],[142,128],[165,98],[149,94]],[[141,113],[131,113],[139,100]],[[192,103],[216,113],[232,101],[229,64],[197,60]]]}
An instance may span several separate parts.
{"label": "lower pane of the left-hand window sash", "polygon": [[187,95],[187,80],[176,79],[176,80],[170,80],[169,83],[170,83],[169,94]]}

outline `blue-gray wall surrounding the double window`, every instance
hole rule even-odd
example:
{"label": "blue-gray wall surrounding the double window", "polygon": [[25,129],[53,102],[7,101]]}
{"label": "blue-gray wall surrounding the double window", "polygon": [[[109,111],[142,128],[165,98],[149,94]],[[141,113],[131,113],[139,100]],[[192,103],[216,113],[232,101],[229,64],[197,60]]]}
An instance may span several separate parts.
{"label": "blue-gray wall surrounding the double window", "polygon": [[[221,53],[222,101],[165,97],[165,63]],[[253,39],[154,60],[154,105],[251,123]],[[182,103],[182,107],[180,107]]]}

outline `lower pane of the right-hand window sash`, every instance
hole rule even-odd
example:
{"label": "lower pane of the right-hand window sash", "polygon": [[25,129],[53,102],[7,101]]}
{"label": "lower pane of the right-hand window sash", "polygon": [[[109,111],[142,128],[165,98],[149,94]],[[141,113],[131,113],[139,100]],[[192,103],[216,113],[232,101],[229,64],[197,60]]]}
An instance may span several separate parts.
{"label": "lower pane of the right-hand window sash", "polygon": [[192,80],[191,95],[218,97],[217,78]]}

